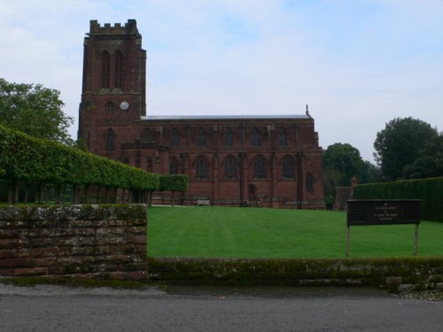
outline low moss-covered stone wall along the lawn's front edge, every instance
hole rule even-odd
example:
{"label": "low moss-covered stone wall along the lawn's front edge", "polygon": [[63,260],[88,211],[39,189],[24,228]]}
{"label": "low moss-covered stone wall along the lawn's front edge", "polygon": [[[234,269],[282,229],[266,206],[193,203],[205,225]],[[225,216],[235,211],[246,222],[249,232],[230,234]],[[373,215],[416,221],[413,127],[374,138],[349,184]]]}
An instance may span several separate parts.
{"label": "low moss-covered stone wall along the lawn's front edge", "polygon": [[443,290],[443,258],[149,259],[150,279],[290,286]]}

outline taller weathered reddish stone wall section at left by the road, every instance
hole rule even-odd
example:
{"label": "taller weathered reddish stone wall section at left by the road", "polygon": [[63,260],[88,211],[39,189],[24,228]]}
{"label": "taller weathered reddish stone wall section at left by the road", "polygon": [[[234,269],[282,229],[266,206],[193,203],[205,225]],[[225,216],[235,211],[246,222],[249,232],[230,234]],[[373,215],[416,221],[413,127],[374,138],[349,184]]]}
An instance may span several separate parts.
{"label": "taller weathered reddish stone wall section at left by the road", "polygon": [[0,207],[0,276],[145,279],[145,205]]}

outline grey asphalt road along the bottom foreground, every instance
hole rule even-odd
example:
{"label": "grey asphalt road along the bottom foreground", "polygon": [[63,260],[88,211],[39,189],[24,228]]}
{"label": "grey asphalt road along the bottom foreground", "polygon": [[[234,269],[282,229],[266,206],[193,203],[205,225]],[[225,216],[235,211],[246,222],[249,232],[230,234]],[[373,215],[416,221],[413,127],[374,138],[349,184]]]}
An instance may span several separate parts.
{"label": "grey asphalt road along the bottom foreground", "polygon": [[0,283],[0,331],[443,331],[443,302],[380,290]]}

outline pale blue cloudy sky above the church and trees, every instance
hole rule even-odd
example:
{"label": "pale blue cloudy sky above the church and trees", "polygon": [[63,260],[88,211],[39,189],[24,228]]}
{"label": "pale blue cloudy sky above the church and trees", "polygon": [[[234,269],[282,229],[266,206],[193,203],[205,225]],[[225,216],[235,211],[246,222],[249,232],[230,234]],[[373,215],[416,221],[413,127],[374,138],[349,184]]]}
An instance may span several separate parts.
{"label": "pale blue cloudy sky above the church and trees", "polygon": [[443,130],[442,18],[440,0],[1,0],[0,77],[58,89],[77,120],[89,20],[136,19],[149,115],[308,104],[323,149],[350,143],[372,162],[394,118]]}

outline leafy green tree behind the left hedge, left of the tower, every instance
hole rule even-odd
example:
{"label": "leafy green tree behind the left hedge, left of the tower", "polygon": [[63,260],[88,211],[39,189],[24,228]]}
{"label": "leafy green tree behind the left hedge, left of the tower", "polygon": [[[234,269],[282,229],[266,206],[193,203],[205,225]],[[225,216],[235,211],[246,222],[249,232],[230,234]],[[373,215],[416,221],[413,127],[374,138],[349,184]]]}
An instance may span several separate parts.
{"label": "leafy green tree behind the left hedge, left of the tower", "polygon": [[73,143],[67,128],[74,123],[63,112],[59,91],[41,84],[18,84],[0,78],[0,123],[27,135]]}

